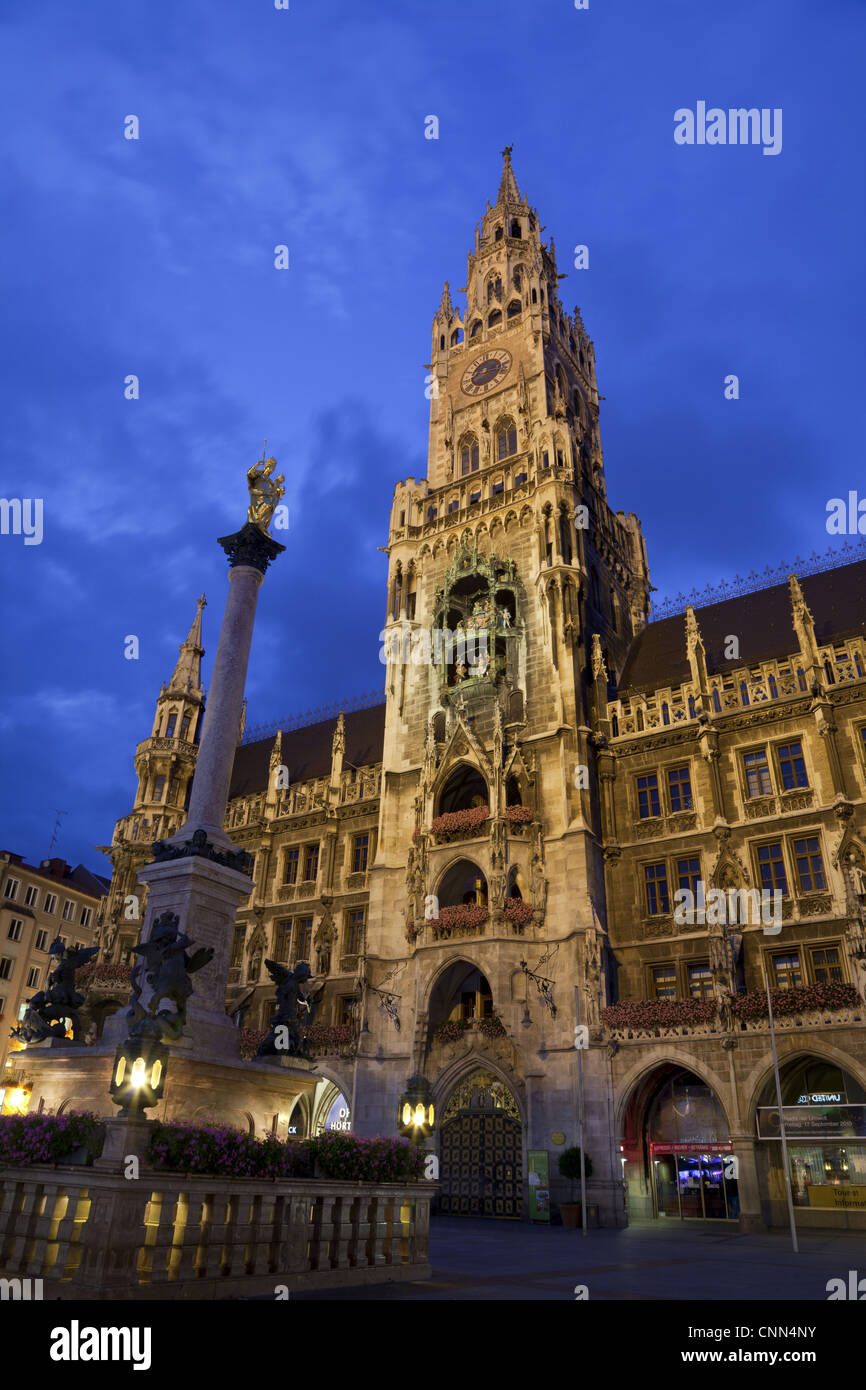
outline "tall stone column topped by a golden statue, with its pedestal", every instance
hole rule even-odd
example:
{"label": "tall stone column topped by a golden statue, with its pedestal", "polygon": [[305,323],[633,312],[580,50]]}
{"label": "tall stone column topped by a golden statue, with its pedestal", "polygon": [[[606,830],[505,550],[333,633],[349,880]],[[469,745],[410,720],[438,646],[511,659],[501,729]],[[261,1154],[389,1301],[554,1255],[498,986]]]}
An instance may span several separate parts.
{"label": "tall stone column topped by a golden statue, with its pedestal", "polygon": [[[211,960],[195,976],[183,1036],[172,1045],[172,1051],[200,1058],[238,1056],[238,1030],[225,1013],[225,991],[236,912],[253,891],[253,883],[247,872],[249,855],[232,844],[224,823],[259,589],[271,560],[285,550],[267,531],[284,495],[284,477],[274,477],[275,467],[274,459],[263,459],[249,470],[246,524],[234,535],[220,538],[231,566],[229,588],[186,824],[171,840],[154,844],[153,862],[138,874],[147,884],[142,944],[150,941],[161,913],[172,912],[179,917],[179,930],[192,938],[196,949],[213,949]],[[142,994],[143,1006],[149,992]],[[108,1020],[106,1041],[115,1034],[120,1040],[125,1017],[121,1011]]]}

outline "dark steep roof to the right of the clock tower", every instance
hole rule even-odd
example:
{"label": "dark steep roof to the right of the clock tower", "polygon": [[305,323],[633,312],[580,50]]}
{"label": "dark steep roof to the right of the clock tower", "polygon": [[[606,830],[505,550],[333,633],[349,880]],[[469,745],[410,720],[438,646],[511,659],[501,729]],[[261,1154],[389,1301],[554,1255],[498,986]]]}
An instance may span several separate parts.
{"label": "dark steep roof to the right of the clock tower", "polygon": [[[866,635],[866,560],[808,574],[799,582],[815,619],[815,639],[819,646],[847,637]],[[787,584],[709,603],[695,609],[695,617],[710,676],[756,666],[759,662],[781,660],[798,651]],[[731,634],[740,638],[737,657],[724,655],[726,639]],[[638,634],[628,652],[617,692],[626,695],[659,685],[680,685],[689,678],[685,616],[677,613],[657,623],[648,623]]]}

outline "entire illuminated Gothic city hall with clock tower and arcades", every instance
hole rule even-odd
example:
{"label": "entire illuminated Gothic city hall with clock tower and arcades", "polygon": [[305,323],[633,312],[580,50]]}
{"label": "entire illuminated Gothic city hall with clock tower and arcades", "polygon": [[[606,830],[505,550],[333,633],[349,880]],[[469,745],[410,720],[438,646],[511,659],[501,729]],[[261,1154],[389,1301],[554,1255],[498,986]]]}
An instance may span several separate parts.
{"label": "entire illuminated Gothic city hall with clock tower and arcades", "polygon": [[[228,1012],[254,1048],[267,959],[327,991],[314,1091],[218,1118],[395,1134],[420,1098],[442,1212],[544,1219],[580,1063],[594,1219],[783,1225],[769,981],[798,1225],[862,1227],[866,562],[649,620],[541,231],[506,150],[466,311],[446,285],[434,318],[427,478],[395,488],[384,702],[239,741]],[[202,656],[200,602],[106,848],[115,967],[138,870],[183,821]],[[125,997],[107,972],[89,1002],[99,1030]]]}

